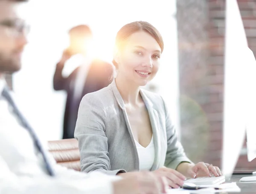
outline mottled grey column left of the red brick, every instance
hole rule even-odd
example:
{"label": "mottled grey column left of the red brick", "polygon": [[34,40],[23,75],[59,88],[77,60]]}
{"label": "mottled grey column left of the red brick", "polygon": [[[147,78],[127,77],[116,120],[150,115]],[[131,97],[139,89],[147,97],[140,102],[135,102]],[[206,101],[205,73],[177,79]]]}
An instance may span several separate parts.
{"label": "mottled grey column left of the red brick", "polygon": [[[181,142],[192,161],[204,159],[209,125],[201,108],[206,97],[208,4],[204,0],[177,0],[180,70]],[[204,122],[202,122],[204,121]]]}

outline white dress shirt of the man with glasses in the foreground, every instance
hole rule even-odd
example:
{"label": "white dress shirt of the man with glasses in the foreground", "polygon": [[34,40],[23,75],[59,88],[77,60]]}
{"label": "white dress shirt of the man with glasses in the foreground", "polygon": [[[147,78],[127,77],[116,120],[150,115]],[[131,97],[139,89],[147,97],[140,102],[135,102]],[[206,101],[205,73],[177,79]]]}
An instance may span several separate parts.
{"label": "white dress shirt of the man with glasses in the foreground", "polygon": [[[6,82],[0,79],[0,193],[1,194],[112,194],[117,176],[77,172],[48,158],[55,177],[47,174],[44,160],[1,95]],[[50,126],[50,125],[49,125]]]}

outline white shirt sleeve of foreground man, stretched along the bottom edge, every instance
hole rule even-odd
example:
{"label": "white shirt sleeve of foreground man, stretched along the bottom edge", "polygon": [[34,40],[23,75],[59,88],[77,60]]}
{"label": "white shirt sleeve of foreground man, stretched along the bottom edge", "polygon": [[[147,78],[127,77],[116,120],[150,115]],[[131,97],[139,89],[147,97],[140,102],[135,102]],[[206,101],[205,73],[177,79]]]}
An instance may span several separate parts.
{"label": "white shirt sleeve of foreground man, stretched along the bottom edge", "polygon": [[[57,169],[56,177],[18,176],[1,156],[0,172],[1,194],[112,194],[112,181],[116,180],[99,172],[82,174],[62,167]],[[78,175],[76,179],[70,178],[75,175]]]}

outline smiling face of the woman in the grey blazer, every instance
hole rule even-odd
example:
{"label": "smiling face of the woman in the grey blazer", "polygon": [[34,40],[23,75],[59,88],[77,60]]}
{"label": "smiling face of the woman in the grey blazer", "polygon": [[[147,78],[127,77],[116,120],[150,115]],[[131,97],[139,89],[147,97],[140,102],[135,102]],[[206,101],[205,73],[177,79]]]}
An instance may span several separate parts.
{"label": "smiling face of the woman in the grey blazer", "polygon": [[119,63],[117,76],[126,78],[128,83],[145,86],[156,75],[160,56],[161,48],[151,35],[135,32],[116,55],[115,60]]}

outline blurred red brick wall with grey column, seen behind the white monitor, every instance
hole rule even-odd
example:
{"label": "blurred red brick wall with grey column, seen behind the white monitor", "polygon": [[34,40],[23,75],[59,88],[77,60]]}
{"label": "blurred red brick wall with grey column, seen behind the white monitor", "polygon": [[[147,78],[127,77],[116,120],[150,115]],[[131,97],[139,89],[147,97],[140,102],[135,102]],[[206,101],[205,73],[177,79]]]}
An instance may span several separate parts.
{"label": "blurred red brick wall with grey column, seen behind the white monitor", "polygon": [[[249,47],[256,54],[256,3],[238,3]],[[225,0],[177,0],[177,26],[182,143],[195,162],[220,166]],[[256,168],[256,162],[240,156],[236,168]]]}

